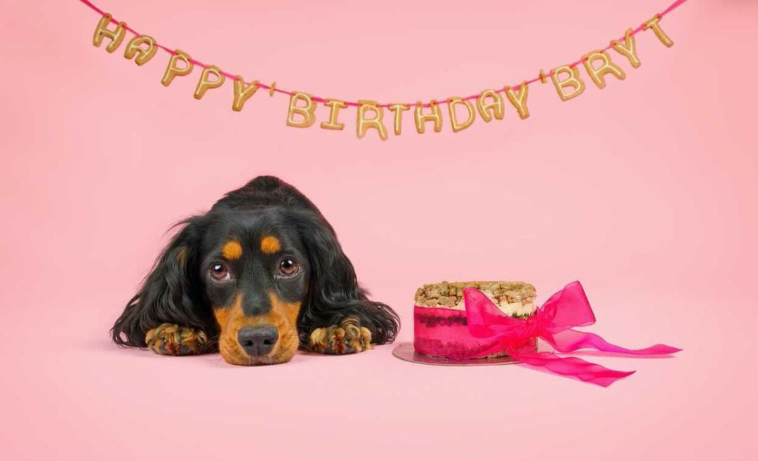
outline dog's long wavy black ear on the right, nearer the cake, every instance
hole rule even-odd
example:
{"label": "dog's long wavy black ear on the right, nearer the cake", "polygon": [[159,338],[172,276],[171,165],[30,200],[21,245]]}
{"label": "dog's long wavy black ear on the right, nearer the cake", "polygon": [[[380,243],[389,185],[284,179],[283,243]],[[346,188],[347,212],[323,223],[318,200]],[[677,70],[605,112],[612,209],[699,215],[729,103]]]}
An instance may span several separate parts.
{"label": "dog's long wavy black ear on the right, nearer the cake", "polygon": [[338,325],[348,315],[371,331],[371,342],[392,342],[400,328],[398,315],[390,306],[368,299],[330,225],[311,212],[299,213],[296,225],[311,265],[308,295],[298,318],[300,342],[308,343],[312,328]]}

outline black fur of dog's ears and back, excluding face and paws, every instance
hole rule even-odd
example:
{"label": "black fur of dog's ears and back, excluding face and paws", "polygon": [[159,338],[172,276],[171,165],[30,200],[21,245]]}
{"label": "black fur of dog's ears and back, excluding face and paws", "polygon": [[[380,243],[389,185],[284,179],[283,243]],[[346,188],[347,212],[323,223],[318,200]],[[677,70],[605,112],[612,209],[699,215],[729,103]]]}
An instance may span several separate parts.
{"label": "black fur of dog's ears and back, excluding face and paws", "polygon": [[[202,274],[211,236],[230,226],[282,227],[307,256],[307,293],[297,321],[301,346],[315,328],[338,325],[352,315],[372,334],[372,342],[391,342],[399,330],[399,318],[390,306],[368,299],[356,272],[345,256],[334,229],[318,208],[302,193],[277,177],[256,177],[244,187],[227,193],[205,215],[186,219],[171,243],[155,262],[136,295],[111,330],[122,346],[146,347],[147,331],[163,323],[204,331],[215,347],[218,326],[211,297],[218,296]],[[298,296],[296,288],[291,296]]]}

